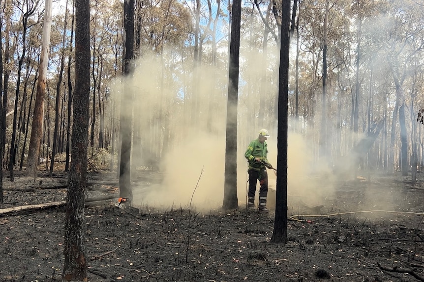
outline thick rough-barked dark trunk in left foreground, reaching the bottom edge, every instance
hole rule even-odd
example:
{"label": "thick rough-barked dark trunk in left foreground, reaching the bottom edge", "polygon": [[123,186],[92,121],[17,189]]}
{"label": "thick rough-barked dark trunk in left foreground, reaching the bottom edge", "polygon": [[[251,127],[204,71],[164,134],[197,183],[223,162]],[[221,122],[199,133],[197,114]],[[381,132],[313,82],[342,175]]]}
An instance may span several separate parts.
{"label": "thick rough-barked dark trunk in left foreground, reaching the bottom edge", "polygon": [[87,281],[84,248],[84,200],[87,186],[87,146],[90,103],[90,0],[75,1],[75,93],[72,161],[66,197],[62,279]]}

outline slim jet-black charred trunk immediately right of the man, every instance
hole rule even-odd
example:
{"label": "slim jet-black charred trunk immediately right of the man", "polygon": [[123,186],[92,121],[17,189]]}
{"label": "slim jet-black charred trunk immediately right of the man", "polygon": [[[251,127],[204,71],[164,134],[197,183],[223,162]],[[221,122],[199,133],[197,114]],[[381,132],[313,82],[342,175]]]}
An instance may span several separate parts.
{"label": "slim jet-black charred trunk immediately right of the man", "polygon": [[282,2],[280,66],[278,74],[278,128],[277,128],[277,192],[275,199],[273,243],[287,242],[287,130],[289,95],[289,36],[290,0]]}

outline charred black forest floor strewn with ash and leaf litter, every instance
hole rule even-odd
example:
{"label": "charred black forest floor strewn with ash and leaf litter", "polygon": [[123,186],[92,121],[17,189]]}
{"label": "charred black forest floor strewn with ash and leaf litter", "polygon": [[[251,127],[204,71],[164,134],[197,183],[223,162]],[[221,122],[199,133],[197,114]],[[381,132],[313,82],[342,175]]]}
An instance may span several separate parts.
{"label": "charred black forest floor strewn with ash and leaf litter", "polygon": [[[65,200],[67,174],[36,181],[15,172],[3,178],[5,208]],[[138,172],[137,181],[160,181]],[[424,176],[380,175],[340,182],[324,207],[301,210],[288,221],[288,242],[273,244],[274,212],[193,212],[141,209],[136,216],[114,205],[116,174],[89,174],[85,247],[89,281],[423,281]],[[373,194],[373,212],[363,210]],[[380,204],[394,202],[392,210]],[[368,208],[369,210],[369,208]],[[289,209],[288,214],[293,215]],[[313,216],[312,216],[313,215]],[[0,214],[0,282],[61,281],[64,207]]]}

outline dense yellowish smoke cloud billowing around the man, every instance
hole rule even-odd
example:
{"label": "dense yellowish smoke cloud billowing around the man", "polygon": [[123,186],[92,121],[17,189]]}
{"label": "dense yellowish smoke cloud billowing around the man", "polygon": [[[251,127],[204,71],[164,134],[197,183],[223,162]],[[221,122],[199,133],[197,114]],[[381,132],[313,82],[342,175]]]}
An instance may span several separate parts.
{"label": "dense yellowish smoke cloud billowing around the man", "polygon": [[[268,52],[275,52],[275,49],[269,48]],[[257,54],[252,55],[257,57]],[[251,68],[255,76],[260,69],[258,66],[260,63],[261,61],[255,60],[255,67]],[[131,159],[133,170],[152,162],[159,166],[164,176],[160,184],[137,183],[137,180],[133,179],[134,205],[148,205],[161,209],[169,209],[171,206],[188,207],[193,196],[191,205],[197,210],[209,210],[222,206],[227,103],[227,89],[222,85],[228,83],[227,70],[219,67],[199,67],[197,72],[187,72],[190,65],[192,62],[185,64],[177,60],[173,63],[164,63],[160,56],[145,54],[142,59],[137,60],[132,77],[126,78],[123,83],[116,83],[119,85],[113,91],[116,97],[119,97],[122,91],[133,91],[134,94],[134,100],[124,101],[128,102],[128,108],[132,106],[134,109]],[[275,68],[276,66],[270,65],[266,67],[272,73]],[[245,73],[249,70],[244,69],[244,76],[249,75]],[[194,86],[195,77],[199,83]],[[248,142],[257,138],[258,131],[261,129],[257,125],[246,124],[246,112],[254,112],[258,105],[247,101],[249,97],[246,91],[249,87],[244,82],[242,80],[240,85],[238,109],[239,206],[244,206],[246,203],[247,162],[244,152]],[[193,100],[193,97],[186,94],[191,91],[187,89],[187,85],[196,88],[197,100]],[[271,93],[268,103],[273,103],[276,95],[275,85],[270,83],[267,87],[265,91]],[[186,107],[184,103],[187,104]],[[193,107],[195,111],[192,111]],[[131,114],[131,111],[127,113]],[[267,118],[270,119],[271,114]],[[269,161],[276,167],[277,130],[276,128],[268,129],[272,134],[267,141]],[[170,136],[169,145],[163,148],[163,154],[159,155],[157,152],[161,152],[161,146],[165,146],[162,143],[164,134]],[[333,190],[332,179],[328,177],[331,169],[328,165],[317,165],[314,162],[314,154],[310,152],[310,148],[314,146],[308,144],[301,135],[289,133],[288,143],[289,206],[297,205],[300,200],[307,205],[321,204]],[[310,173],[316,173],[317,170],[321,174],[320,177],[323,174],[326,175],[324,185],[316,177],[310,177]],[[272,206],[275,202],[273,197],[275,197],[276,176],[272,170],[268,173],[269,203]],[[132,174],[134,178],[135,172]],[[259,190],[259,183],[257,190]]]}

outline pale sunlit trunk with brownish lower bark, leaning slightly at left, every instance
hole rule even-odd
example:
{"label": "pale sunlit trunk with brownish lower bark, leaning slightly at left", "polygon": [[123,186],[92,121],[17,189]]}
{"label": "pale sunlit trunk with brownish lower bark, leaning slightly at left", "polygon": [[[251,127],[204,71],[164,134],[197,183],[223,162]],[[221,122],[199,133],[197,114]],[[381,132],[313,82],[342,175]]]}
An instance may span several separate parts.
{"label": "pale sunlit trunk with brownish lower bark, leaning slightly at left", "polygon": [[43,135],[44,97],[46,96],[47,64],[49,62],[50,51],[50,29],[52,26],[52,0],[46,0],[44,13],[43,40],[37,81],[37,94],[35,96],[34,113],[32,116],[32,129],[26,170],[26,175],[34,179],[37,177],[38,155],[40,153],[40,142]]}

